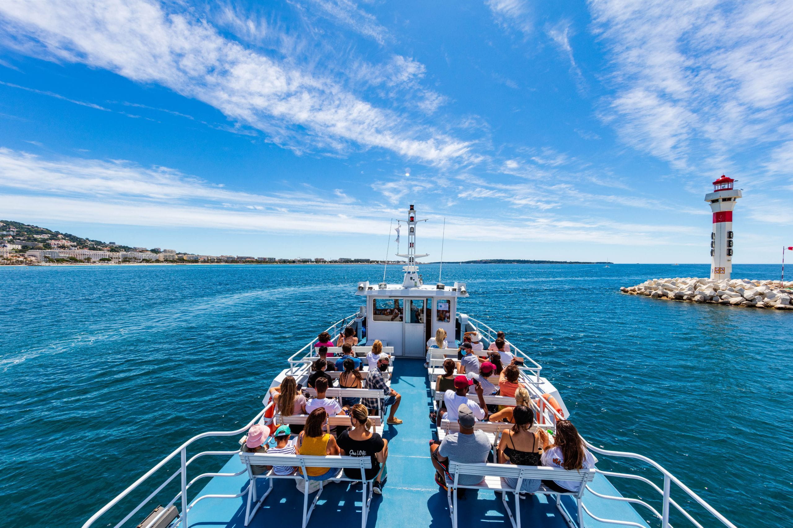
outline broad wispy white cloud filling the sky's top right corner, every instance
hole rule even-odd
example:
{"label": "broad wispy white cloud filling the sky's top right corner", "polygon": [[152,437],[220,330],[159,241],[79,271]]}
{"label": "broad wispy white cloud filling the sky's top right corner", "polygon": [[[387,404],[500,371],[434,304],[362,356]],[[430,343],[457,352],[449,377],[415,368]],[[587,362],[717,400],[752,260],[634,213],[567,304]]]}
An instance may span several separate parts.
{"label": "broad wispy white cloud filling the sky's top right corner", "polygon": [[710,169],[710,158],[780,139],[793,97],[791,2],[589,5],[613,68],[604,118],[624,141]]}

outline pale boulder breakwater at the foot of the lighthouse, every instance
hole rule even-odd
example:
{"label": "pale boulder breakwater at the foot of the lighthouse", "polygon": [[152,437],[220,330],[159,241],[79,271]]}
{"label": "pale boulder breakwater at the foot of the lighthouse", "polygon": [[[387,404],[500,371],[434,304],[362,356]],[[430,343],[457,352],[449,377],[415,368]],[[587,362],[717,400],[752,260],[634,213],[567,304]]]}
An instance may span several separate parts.
{"label": "pale boulder breakwater at the foot of the lighthouse", "polygon": [[676,279],[649,279],[631,287],[621,287],[624,294],[646,295],[647,297],[671,301],[710,302],[750,308],[774,308],[793,310],[793,282],[779,280],[749,279],[699,279],[685,277]]}

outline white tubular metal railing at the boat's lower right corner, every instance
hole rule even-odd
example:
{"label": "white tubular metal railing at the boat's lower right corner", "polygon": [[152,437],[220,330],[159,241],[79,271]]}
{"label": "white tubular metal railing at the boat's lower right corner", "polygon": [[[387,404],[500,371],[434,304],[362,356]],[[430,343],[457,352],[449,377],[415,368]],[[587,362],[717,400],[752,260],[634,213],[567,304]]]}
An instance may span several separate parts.
{"label": "white tubular metal railing at the boat's lower right corner", "polygon": [[[622,500],[622,501],[626,501],[626,502],[629,502],[629,503],[642,504],[642,506],[645,506],[645,507],[649,508],[649,510],[653,513],[653,516],[655,516],[657,519],[661,520],[661,528],[669,528],[671,526],[669,524],[669,506],[671,505],[671,506],[675,507],[677,511],[680,511],[680,513],[683,514],[684,517],[686,519],[688,519],[688,521],[691,522],[691,524],[693,524],[697,528],[703,528],[702,524],[700,524],[696,519],[691,517],[691,514],[689,514],[688,511],[686,511],[683,507],[681,507],[680,504],[676,503],[675,500],[672,500],[672,497],[671,497],[671,487],[672,486],[671,486],[671,484],[676,484],[676,486],[678,488],[682,489],[688,496],[691,497],[691,499],[695,500],[696,503],[699,503],[699,505],[702,506],[703,508],[705,508],[705,510],[708,513],[713,515],[716,519],[718,519],[718,521],[722,522],[722,524],[724,526],[728,526],[729,528],[737,528],[737,526],[735,526],[732,522],[730,522],[728,519],[726,519],[726,517],[724,515],[718,513],[718,511],[716,511],[716,509],[714,507],[712,507],[710,504],[708,504],[702,497],[697,495],[695,492],[691,491],[691,489],[688,488],[688,486],[686,486],[685,484],[680,482],[680,480],[677,477],[672,475],[672,473],[669,473],[666,469],[664,469],[663,466],[661,466],[657,462],[653,461],[652,459],[647,458],[647,457],[645,457],[645,456],[643,456],[641,454],[636,454],[636,453],[627,453],[625,451],[610,451],[610,450],[601,449],[600,447],[596,447],[596,446],[593,446],[591,443],[588,443],[585,439],[584,439],[584,443],[586,444],[586,446],[587,446],[587,448],[589,450],[592,450],[592,451],[594,451],[594,452],[596,452],[598,454],[604,454],[604,455],[609,456],[609,457],[634,458],[636,460],[641,460],[642,462],[646,462],[647,464],[652,465],[653,468],[655,468],[658,471],[660,471],[661,474],[664,476],[663,489],[661,489],[653,481],[650,481],[648,478],[642,477],[640,475],[631,475],[630,473],[615,473],[615,472],[611,472],[611,471],[603,471],[603,470],[597,469],[597,468],[595,469],[597,473],[600,473],[600,474],[602,474],[603,476],[606,476],[606,477],[630,478],[630,479],[634,479],[634,480],[637,480],[637,481],[642,481],[642,482],[645,482],[646,484],[649,484],[650,487],[653,488],[653,490],[655,490],[656,492],[658,492],[661,495],[661,513],[659,513],[654,507],[650,506],[648,503],[646,503],[646,502],[644,502],[642,500],[629,499],[629,498],[626,498],[626,497],[615,497],[615,496],[602,495],[600,493],[592,491],[592,488],[589,488],[589,486],[587,486],[588,491],[590,493],[592,493],[592,495],[598,496],[598,497],[600,497],[602,499]],[[599,519],[595,515],[592,515],[585,508],[584,508],[584,511],[586,512],[587,515],[592,517],[592,519],[596,519],[596,520],[598,520],[600,522],[611,522],[613,524],[626,524],[626,522],[617,522],[617,521],[609,521],[607,519]],[[634,524],[631,524],[630,526],[634,526]],[[641,526],[641,525],[635,525],[635,526]]]}

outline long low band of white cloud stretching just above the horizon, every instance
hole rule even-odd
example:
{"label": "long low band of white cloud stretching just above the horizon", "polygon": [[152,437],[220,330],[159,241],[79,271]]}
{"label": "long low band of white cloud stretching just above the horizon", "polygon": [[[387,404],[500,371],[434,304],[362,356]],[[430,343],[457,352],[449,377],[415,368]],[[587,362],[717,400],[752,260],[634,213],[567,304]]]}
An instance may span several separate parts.
{"label": "long low band of white cloud stretching just above the horizon", "polygon": [[[488,184],[476,177],[462,186],[439,188],[431,178],[400,177],[377,184],[377,190],[402,203],[405,196],[423,197],[423,214],[446,216],[446,238],[480,241],[598,241],[650,245],[673,235],[698,232],[674,225],[646,226],[610,218],[554,215],[557,204],[547,197],[553,186]],[[558,193],[575,197],[572,188]],[[458,190],[453,190],[458,189]],[[436,211],[451,192],[469,200],[472,215]],[[437,199],[435,199],[437,197]],[[592,199],[583,196],[582,199]],[[0,203],[10,217],[98,222],[130,226],[202,227],[261,230],[272,233],[374,234],[388,230],[388,220],[403,211],[367,203],[341,189],[330,191],[300,185],[270,194],[238,192],[167,167],[143,167],[129,161],[83,158],[44,159],[0,149]],[[519,215],[482,218],[477,204],[508,204]],[[339,208],[343,204],[346,207]],[[353,206],[353,207],[350,207]],[[451,214],[450,214],[451,212]],[[473,218],[476,218],[475,220]],[[423,228],[423,236],[439,238],[441,222]]]}

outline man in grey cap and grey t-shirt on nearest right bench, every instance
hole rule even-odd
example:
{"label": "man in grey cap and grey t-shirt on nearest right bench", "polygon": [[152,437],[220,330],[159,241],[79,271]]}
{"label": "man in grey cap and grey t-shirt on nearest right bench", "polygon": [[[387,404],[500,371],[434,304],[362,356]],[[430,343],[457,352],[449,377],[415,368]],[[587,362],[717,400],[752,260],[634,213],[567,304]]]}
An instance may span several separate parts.
{"label": "man in grey cap and grey t-shirt on nearest right bench", "polygon": [[[430,442],[430,456],[435,466],[435,483],[446,488],[446,476],[449,474],[449,461],[463,464],[487,462],[490,454],[488,435],[482,431],[474,431],[476,419],[468,405],[460,404],[457,409],[460,432],[446,435],[443,442]],[[479,484],[484,477],[477,475],[460,475],[458,484],[473,486]]]}

